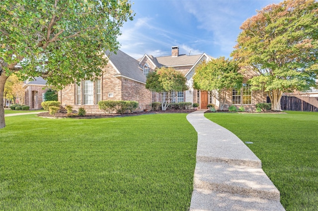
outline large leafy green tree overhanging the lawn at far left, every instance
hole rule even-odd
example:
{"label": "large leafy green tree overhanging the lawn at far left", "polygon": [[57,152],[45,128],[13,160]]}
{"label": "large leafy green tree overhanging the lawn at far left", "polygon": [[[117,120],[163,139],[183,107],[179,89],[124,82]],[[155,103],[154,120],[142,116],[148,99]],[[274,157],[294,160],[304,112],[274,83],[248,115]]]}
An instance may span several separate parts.
{"label": "large leafy green tree overhanging the lawn at far left", "polygon": [[133,16],[128,0],[1,0],[0,128],[9,75],[42,76],[58,89],[98,77],[102,51],[118,49],[120,27]]}

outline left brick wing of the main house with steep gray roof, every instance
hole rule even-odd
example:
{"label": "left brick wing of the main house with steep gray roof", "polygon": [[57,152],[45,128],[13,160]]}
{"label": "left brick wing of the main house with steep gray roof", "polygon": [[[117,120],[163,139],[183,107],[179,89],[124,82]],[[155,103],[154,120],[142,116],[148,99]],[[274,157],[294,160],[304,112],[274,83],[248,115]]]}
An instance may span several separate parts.
{"label": "left brick wing of the main house with steep gray roof", "polygon": [[137,101],[137,110],[149,109],[151,92],[145,88],[146,76],[138,60],[118,50],[105,53],[108,64],[98,80],[82,80],[80,85],[71,84],[61,90],[62,106],[70,105],[75,110],[83,107],[88,113],[102,112],[98,102],[104,100]]}

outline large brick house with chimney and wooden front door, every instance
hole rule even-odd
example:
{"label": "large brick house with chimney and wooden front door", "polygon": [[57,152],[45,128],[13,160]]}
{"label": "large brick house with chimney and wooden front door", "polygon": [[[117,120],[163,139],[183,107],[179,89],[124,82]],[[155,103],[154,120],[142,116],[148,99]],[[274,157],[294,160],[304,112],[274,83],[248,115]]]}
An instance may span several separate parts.
{"label": "large brick house with chimney and wooden front door", "polygon": [[[59,92],[59,101],[62,106],[71,105],[74,109],[84,107],[86,112],[102,112],[98,108],[101,100],[129,100],[139,102],[139,110],[149,109],[152,102],[160,102],[158,93],[152,93],[145,88],[146,76],[156,68],[173,67],[179,70],[187,79],[188,90],[175,92],[172,103],[191,102],[199,103],[200,109],[207,108],[208,104],[219,107],[219,102],[207,91],[193,88],[192,76],[195,68],[203,61],[213,59],[206,53],[198,55],[179,54],[177,46],[171,48],[171,55],[155,57],[145,54],[136,60],[128,54],[118,50],[117,53],[105,53],[109,59],[102,76],[96,81],[82,80],[80,86],[72,84]],[[255,104],[266,103],[266,94],[251,91],[245,83],[240,89],[233,88],[227,95],[225,108],[235,105],[244,106],[246,110],[255,110]]]}

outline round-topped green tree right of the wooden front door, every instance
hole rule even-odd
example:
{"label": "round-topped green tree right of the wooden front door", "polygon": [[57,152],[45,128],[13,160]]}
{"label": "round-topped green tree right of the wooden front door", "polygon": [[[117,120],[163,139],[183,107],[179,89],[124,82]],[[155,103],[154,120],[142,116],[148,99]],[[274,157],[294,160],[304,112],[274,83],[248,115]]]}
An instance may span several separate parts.
{"label": "round-topped green tree right of the wooden front door", "polygon": [[208,91],[220,102],[223,110],[227,93],[232,88],[240,88],[243,76],[239,73],[238,64],[225,57],[219,57],[199,64],[193,76],[193,87],[197,90]]}

